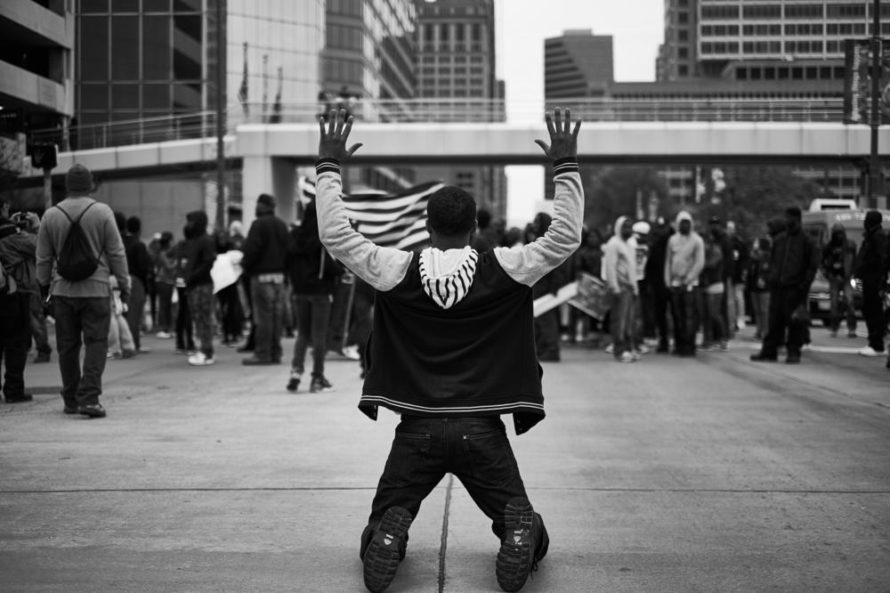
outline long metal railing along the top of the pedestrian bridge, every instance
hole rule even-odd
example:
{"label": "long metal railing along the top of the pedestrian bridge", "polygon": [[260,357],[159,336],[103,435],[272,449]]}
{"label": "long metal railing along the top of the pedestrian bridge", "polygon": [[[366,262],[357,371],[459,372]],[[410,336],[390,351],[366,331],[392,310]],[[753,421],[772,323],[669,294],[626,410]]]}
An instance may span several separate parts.
{"label": "long metal railing along the top of the pedestrian bridge", "polygon": [[[356,119],[377,123],[537,123],[545,110],[570,108],[572,116],[588,122],[842,121],[840,99],[560,99],[511,102],[485,99],[411,99],[308,102],[272,105],[248,103],[226,110],[224,127],[242,124],[306,123],[343,108]],[[209,138],[216,134],[215,111],[199,111],[161,118],[114,121],[66,129],[34,130],[28,142],[54,142],[61,150],[88,150],[146,142]]]}

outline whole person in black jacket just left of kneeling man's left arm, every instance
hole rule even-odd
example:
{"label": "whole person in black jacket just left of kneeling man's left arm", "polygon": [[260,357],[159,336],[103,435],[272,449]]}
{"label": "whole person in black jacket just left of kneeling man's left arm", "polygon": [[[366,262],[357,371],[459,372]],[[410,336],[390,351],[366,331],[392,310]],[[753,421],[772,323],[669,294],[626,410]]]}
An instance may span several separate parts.
{"label": "whole person in black jacket just left of kneeling man's left arm", "polygon": [[334,300],[334,279],[343,267],[328,255],[319,239],[319,218],[315,202],[303,211],[303,223],[290,234],[287,246],[287,274],[294,294],[296,341],[287,391],[295,392],[303,378],[306,347],[312,343],[312,381],[309,391],[328,393],[334,386],[325,378],[328,351],[328,318]]}

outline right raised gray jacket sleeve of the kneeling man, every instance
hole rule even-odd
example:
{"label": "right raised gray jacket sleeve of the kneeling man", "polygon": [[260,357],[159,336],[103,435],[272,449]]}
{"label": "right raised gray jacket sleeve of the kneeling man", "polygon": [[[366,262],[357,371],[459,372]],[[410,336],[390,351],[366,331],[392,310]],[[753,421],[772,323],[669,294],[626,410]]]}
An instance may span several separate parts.
{"label": "right raised gray jacket sleeve of the kneeling man", "polygon": [[578,160],[562,158],[554,162],[554,183],[554,218],[544,236],[529,245],[494,249],[506,274],[526,286],[562,264],[581,244],[584,188]]}

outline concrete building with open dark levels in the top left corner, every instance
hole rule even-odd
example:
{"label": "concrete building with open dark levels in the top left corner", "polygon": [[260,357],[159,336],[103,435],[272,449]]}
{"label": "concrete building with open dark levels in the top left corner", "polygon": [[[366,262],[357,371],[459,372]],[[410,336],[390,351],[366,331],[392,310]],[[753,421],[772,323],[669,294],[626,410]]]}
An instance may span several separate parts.
{"label": "concrete building with open dark levels in the top left corner", "polygon": [[63,128],[74,114],[71,3],[4,0],[0,38],[0,134]]}

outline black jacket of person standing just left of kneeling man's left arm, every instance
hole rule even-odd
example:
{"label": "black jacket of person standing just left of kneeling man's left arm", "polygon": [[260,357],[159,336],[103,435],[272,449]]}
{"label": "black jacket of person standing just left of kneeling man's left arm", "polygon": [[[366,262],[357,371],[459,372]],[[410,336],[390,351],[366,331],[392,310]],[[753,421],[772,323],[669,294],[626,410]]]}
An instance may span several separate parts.
{"label": "black jacket of person standing just left of kneeling man's left arm", "polygon": [[295,295],[333,295],[334,280],[343,273],[319,239],[319,219],[312,202],[303,223],[290,232],[287,244],[287,276]]}

